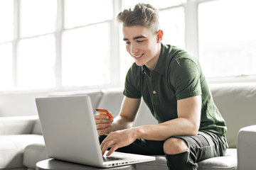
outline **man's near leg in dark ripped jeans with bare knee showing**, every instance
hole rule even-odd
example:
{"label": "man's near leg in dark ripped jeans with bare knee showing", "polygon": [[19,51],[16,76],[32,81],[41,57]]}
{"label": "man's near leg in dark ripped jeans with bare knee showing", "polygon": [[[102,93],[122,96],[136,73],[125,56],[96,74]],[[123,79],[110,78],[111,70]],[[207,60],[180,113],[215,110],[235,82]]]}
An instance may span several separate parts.
{"label": "man's near leg in dark ripped jeans with bare knee showing", "polygon": [[169,169],[198,168],[197,162],[225,154],[226,143],[223,137],[211,132],[198,132],[196,136],[171,137],[164,143]]}

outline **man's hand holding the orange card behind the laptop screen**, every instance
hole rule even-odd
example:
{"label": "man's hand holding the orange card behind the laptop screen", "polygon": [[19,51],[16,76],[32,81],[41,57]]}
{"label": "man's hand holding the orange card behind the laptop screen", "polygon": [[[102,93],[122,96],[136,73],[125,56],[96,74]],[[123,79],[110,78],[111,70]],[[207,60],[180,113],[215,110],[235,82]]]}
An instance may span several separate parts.
{"label": "man's hand holding the orange card behind the laptop screen", "polygon": [[107,115],[94,115],[97,133],[98,135],[107,135],[107,132],[110,130],[110,126],[114,121],[112,118]]}

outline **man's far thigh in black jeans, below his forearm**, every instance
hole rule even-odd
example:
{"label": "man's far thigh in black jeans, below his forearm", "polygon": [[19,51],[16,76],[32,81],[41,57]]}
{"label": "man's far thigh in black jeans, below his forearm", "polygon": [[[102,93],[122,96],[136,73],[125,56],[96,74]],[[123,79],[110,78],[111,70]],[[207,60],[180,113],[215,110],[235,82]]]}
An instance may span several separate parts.
{"label": "man's far thigh in black jeans, below his forearm", "polygon": [[[105,139],[105,135],[99,137],[100,143]],[[164,141],[137,139],[127,147],[120,147],[117,152],[144,155],[164,155]]]}

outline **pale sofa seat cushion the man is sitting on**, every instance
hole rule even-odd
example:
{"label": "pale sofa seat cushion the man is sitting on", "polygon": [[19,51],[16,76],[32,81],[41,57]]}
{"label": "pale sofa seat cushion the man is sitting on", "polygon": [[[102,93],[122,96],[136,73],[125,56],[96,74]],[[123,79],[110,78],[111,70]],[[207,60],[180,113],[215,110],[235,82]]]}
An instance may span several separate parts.
{"label": "pale sofa seat cushion the man is sitting on", "polygon": [[[236,170],[237,167],[237,149],[227,149],[225,157],[213,157],[198,162],[198,170]],[[136,169],[142,170],[167,170],[166,158],[164,155],[156,156],[155,162],[146,162],[137,164]]]}

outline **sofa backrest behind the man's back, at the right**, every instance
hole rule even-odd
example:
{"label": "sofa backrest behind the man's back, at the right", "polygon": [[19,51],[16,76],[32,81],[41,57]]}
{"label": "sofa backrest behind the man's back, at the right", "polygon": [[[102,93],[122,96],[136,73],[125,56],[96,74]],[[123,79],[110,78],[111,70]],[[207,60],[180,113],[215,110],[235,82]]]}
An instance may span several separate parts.
{"label": "sofa backrest behind the man's back, at the right", "polygon": [[210,91],[228,127],[228,145],[235,148],[240,128],[256,124],[256,84],[210,84]]}

